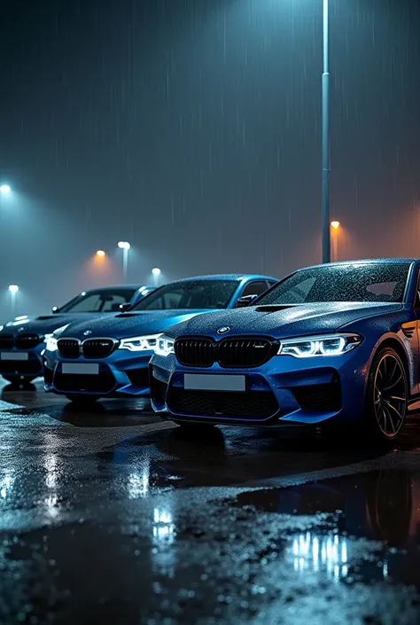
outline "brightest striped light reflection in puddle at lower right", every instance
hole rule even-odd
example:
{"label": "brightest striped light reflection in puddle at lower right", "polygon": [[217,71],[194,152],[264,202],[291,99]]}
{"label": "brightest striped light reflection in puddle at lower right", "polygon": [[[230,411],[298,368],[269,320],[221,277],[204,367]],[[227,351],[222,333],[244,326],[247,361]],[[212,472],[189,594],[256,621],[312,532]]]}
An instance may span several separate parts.
{"label": "brightest striped light reflection in puddle at lower right", "polygon": [[[300,534],[292,539],[287,551],[292,555],[293,568],[298,573],[307,571],[325,572],[338,581],[348,575],[348,541],[344,536]],[[382,568],[384,578],[388,576],[388,562]]]}

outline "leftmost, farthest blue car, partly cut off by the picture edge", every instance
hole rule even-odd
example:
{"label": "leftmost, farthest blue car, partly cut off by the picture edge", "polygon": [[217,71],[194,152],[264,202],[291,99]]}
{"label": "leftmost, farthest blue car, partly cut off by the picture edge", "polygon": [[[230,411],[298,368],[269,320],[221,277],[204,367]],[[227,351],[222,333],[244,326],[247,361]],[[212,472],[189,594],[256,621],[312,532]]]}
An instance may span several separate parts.
{"label": "leftmost, farthest blue car, partly cut off by the picture edge", "polygon": [[153,286],[119,285],[83,291],[51,315],[17,316],[0,325],[0,375],[12,384],[29,384],[43,374],[45,337],[72,321],[117,314],[152,293]]}

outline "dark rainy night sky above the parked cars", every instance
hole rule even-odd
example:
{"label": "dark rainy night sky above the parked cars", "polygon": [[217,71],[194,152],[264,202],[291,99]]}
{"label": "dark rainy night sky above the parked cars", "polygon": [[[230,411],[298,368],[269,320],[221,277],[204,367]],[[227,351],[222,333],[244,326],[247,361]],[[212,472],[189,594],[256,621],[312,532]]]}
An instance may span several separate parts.
{"label": "dark rainy night sky above the parked cars", "polygon": [[[131,281],[320,261],[322,0],[3,0],[0,58],[19,311],[118,281],[121,238]],[[419,254],[419,67],[418,0],[331,0],[341,258]]]}

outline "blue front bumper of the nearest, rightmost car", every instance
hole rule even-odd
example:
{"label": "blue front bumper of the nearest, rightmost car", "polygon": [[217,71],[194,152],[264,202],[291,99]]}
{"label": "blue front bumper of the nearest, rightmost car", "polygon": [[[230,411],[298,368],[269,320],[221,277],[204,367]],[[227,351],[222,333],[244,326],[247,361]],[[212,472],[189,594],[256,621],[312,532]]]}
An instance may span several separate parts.
{"label": "blue front bumper of the nearest, rightmost car", "polygon": [[[354,422],[364,415],[371,348],[362,344],[345,355],[315,358],[274,356],[253,369],[183,367],[175,355],[153,355],[153,409],[163,418],[207,423],[282,426],[315,425],[333,419]],[[185,373],[243,374],[245,392],[184,388]]]}

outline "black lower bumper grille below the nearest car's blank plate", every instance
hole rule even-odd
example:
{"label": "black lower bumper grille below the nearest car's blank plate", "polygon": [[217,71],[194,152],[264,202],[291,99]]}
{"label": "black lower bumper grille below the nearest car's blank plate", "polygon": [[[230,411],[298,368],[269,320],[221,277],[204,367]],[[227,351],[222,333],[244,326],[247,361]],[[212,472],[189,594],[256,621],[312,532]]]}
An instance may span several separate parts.
{"label": "black lower bumper grille below the nearest car's blank plate", "polygon": [[167,407],[175,414],[197,417],[265,419],[276,414],[278,403],[271,391],[247,393],[186,391],[171,387]]}

